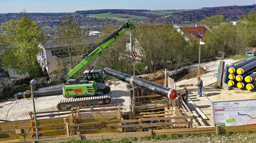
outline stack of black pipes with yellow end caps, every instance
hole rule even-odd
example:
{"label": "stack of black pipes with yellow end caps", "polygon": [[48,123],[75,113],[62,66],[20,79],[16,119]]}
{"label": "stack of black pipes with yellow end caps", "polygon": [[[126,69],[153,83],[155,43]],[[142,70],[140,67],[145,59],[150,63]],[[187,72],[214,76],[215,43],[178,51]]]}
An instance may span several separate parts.
{"label": "stack of black pipes with yellow end caps", "polygon": [[256,57],[239,62],[229,68],[229,86],[237,86],[242,89],[253,90],[256,79]]}

